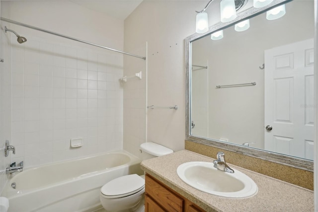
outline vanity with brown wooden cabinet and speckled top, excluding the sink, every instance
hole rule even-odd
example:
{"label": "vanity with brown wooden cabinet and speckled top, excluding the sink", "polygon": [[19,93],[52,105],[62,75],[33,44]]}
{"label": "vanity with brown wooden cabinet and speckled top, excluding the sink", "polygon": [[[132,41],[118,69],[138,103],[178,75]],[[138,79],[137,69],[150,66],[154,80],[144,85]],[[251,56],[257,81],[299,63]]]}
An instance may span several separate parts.
{"label": "vanity with brown wooden cabinet and speckled top, excluding the sink", "polygon": [[183,163],[212,163],[213,160],[182,150],[143,161],[141,168],[146,172],[146,212],[314,211],[313,191],[231,164],[231,168],[239,170],[256,183],[258,192],[254,196],[235,199],[207,194],[187,185],[177,175],[176,170]]}

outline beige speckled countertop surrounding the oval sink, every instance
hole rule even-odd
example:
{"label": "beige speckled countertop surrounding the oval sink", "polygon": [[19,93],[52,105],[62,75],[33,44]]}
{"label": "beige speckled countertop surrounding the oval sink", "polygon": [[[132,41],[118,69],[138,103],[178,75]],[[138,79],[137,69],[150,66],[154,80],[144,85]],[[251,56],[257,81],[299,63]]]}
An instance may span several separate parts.
{"label": "beige speckled countertop surrounding the oval sink", "polygon": [[169,155],[144,160],[142,169],[183,197],[206,211],[222,212],[310,212],[314,211],[314,192],[265,175],[229,164],[249,176],[258,186],[256,195],[246,199],[231,199],[210,195],[185,184],[177,175],[177,167],[190,161],[213,159],[182,150]]}

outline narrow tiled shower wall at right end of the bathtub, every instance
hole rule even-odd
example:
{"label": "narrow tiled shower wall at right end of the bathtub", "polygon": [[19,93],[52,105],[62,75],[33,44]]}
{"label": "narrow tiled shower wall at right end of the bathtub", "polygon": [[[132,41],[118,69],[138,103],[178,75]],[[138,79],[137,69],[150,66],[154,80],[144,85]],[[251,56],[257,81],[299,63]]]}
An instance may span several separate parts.
{"label": "narrow tiled shower wall at right end of the bathtub", "polygon": [[[130,53],[147,57],[147,43],[129,50]],[[142,79],[127,79],[124,87],[124,149],[138,156],[140,144],[146,142],[147,134],[147,60],[124,56],[124,75],[136,76],[141,72]]]}

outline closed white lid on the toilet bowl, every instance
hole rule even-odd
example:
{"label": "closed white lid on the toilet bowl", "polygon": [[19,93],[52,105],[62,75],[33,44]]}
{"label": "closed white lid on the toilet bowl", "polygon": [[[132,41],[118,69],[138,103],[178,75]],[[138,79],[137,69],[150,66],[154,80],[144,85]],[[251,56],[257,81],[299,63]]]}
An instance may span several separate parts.
{"label": "closed white lid on the toilet bowl", "polygon": [[145,179],[137,174],[126,175],[109,181],[100,192],[105,198],[120,198],[135,194],[145,187]]}

